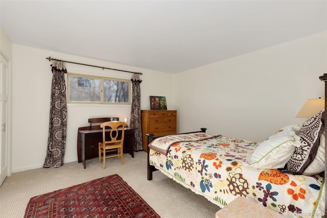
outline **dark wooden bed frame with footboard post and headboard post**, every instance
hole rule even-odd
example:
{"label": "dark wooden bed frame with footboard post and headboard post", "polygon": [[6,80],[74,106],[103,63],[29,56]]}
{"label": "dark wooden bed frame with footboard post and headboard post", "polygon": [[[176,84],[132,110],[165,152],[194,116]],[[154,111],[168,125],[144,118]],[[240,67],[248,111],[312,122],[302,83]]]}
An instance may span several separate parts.
{"label": "dark wooden bed frame with footboard post and headboard post", "polygon": [[[325,83],[325,105],[327,105],[327,73],[323,74],[322,76],[319,77],[319,79],[321,81],[323,81]],[[326,107],[326,106],[325,106]],[[326,121],[327,121],[327,113],[324,113],[324,126],[326,126]],[[201,131],[196,131],[196,132],[190,132],[190,133],[205,133],[206,128],[201,128]],[[184,133],[184,134],[189,134],[189,133]],[[175,134],[177,135],[177,134]],[[147,133],[146,134],[147,138],[148,138],[148,144],[150,144],[150,142],[153,139],[162,137],[162,136],[157,136],[155,137],[154,134],[152,133]],[[327,144],[327,137],[325,137],[325,144]],[[158,169],[156,169],[154,166],[150,165],[150,148],[148,148],[148,180],[152,180],[152,172],[156,171]],[[325,151],[325,160],[327,159],[327,152]],[[326,178],[326,170],[324,172],[324,177]]]}

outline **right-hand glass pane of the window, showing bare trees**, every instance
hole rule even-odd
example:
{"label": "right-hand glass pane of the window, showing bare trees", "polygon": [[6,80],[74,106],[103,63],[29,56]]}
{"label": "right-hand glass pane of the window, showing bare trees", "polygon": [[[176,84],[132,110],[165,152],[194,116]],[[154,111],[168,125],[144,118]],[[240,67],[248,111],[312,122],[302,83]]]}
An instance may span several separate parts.
{"label": "right-hand glass pane of the window, showing bare trees", "polygon": [[118,80],[104,80],[104,102],[128,103],[129,83]]}

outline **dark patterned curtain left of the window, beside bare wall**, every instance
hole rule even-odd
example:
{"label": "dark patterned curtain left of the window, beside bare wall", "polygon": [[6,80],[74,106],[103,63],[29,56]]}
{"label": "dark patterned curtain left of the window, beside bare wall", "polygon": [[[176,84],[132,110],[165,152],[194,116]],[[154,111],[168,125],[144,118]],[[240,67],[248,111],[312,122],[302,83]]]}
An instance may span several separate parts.
{"label": "dark patterned curtain left of the window, beside bare wall", "polygon": [[60,167],[63,165],[67,130],[67,100],[65,73],[62,61],[52,62],[52,86],[50,100],[50,121],[48,149],[43,167]]}

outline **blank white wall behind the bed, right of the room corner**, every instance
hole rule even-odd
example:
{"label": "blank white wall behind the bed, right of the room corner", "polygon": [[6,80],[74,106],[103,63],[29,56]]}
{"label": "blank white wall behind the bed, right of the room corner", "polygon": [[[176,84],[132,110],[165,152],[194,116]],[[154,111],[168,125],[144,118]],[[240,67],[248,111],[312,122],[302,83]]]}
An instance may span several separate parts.
{"label": "blank white wall behind the bed, right of the room corner", "polygon": [[324,97],[326,32],[175,75],[179,130],[263,141]]}

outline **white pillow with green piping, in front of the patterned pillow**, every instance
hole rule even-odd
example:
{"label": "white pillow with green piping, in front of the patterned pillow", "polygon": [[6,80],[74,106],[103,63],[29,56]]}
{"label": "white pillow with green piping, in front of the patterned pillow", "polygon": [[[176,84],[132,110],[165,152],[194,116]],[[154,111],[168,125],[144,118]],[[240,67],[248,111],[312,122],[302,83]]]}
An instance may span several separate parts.
{"label": "white pillow with green piping, in front of the patterned pillow", "polygon": [[283,168],[293,155],[295,147],[301,146],[300,137],[293,128],[287,128],[270,136],[255,148],[245,166],[263,169]]}

